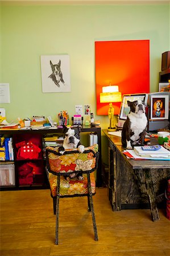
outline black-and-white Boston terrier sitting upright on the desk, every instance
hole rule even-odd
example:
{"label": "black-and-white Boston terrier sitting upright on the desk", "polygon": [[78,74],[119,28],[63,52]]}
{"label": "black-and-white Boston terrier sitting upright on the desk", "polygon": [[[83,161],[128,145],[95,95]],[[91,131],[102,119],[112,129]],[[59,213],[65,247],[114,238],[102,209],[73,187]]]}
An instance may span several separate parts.
{"label": "black-and-white Boston terrier sitting upright on the desk", "polygon": [[127,149],[136,146],[143,146],[147,130],[146,105],[144,101],[127,101],[130,106],[130,113],[123,125],[122,145]]}

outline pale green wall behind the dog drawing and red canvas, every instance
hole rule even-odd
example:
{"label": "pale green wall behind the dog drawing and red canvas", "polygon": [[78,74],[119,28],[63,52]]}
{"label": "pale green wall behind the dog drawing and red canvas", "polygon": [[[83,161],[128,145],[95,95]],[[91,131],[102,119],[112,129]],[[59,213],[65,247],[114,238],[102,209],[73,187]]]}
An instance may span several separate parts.
{"label": "pale green wall behind the dog drawing and red canvas", "polygon": [[[74,105],[91,104],[96,116],[96,40],[150,39],[151,92],[157,91],[161,53],[169,50],[168,5],[1,5],[0,82],[10,84],[7,121],[17,117],[72,116]],[[42,93],[40,55],[68,54],[71,92]],[[139,67],[140,69],[140,67]],[[134,85],[135,86],[135,85]]]}

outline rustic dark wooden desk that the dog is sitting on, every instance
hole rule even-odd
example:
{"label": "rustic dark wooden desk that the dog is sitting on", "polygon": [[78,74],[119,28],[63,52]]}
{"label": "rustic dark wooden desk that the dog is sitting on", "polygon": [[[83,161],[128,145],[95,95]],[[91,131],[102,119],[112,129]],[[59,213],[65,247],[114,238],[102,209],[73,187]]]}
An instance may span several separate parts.
{"label": "rustic dark wooden desk that the dog is sitting on", "polygon": [[113,210],[141,208],[150,204],[152,220],[159,220],[156,193],[164,193],[170,162],[127,159],[121,138],[103,130],[109,141],[109,200]]}

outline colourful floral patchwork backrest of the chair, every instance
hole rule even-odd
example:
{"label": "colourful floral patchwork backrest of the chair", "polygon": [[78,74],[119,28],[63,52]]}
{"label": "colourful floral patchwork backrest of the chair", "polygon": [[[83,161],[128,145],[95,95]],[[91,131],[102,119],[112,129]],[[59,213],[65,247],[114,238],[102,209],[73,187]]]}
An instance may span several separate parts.
{"label": "colourful floral patchwork backrest of the chair", "polygon": [[47,160],[47,170],[55,175],[64,175],[71,172],[87,173],[97,170],[98,144],[85,147],[83,153],[77,148],[65,150],[61,155],[57,148],[46,147],[45,155]]}

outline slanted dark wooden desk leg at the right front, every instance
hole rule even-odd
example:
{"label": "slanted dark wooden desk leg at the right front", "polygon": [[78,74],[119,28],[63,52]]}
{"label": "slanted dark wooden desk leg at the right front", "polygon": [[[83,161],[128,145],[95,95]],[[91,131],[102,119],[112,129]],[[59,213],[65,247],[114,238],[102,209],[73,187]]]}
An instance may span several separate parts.
{"label": "slanted dark wooden desk leg at the right front", "polygon": [[156,206],[155,191],[154,191],[154,185],[152,182],[151,169],[144,169],[144,175],[145,175],[145,181],[146,181],[147,195],[150,201],[152,220],[157,221],[160,219],[160,217],[159,217],[159,212]]}

